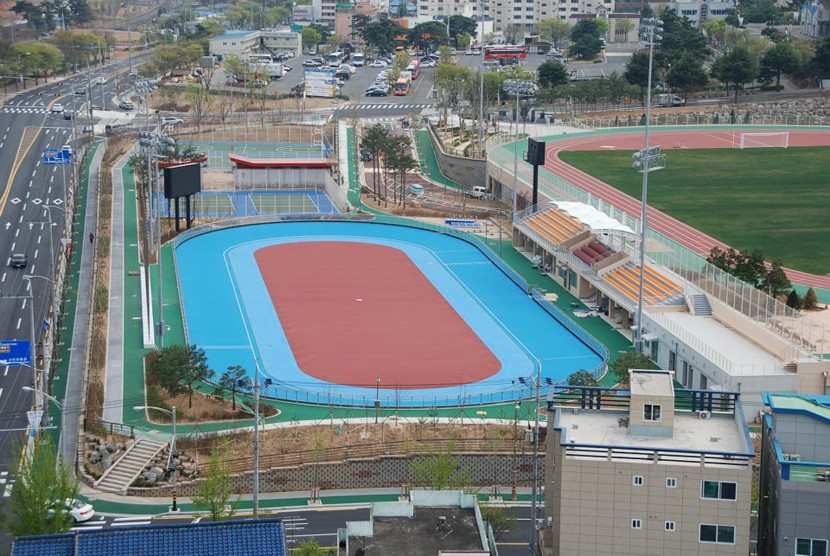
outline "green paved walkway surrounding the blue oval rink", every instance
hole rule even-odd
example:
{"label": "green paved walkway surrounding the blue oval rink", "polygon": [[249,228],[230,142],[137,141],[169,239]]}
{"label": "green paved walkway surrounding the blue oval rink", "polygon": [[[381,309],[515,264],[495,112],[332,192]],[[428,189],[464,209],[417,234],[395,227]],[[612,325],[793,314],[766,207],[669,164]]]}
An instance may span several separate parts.
{"label": "green paved walkway surrounding the blue oval rink", "polygon": [[[351,164],[349,165],[349,202],[354,208],[367,210],[360,201],[359,197],[359,179],[356,170],[357,149],[355,137],[352,129],[348,130],[347,147]],[[148,424],[145,415],[141,411],[132,409],[134,405],[143,403],[144,399],[144,374],[142,368],[143,356],[147,350],[142,345],[140,305],[139,305],[139,280],[137,277],[139,265],[139,252],[137,248],[137,229],[136,229],[136,202],[135,202],[135,184],[133,180],[132,171],[129,166],[124,168],[124,186],[126,189],[125,195],[125,313],[124,313],[124,422],[128,425],[135,425],[139,428],[152,428],[154,430],[168,432],[170,427],[165,424]],[[546,293],[555,293],[558,298],[555,301],[556,305],[564,309],[566,312],[572,313],[575,308],[583,308],[582,304],[577,298],[572,296],[556,282],[549,277],[542,275],[537,269],[533,268],[530,261],[516,251],[509,241],[499,242],[490,240],[488,245],[509,264],[516,272],[527,280],[531,285],[540,288]],[[162,285],[163,291],[163,306],[164,306],[164,322],[165,322],[165,336],[164,344],[171,345],[174,343],[184,343],[184,319],[179,304],[178,284],[175,274],[173,245],[167,244],[162,249],[162,280],[159,280],[158,265],[152,265],[150,269],[151,288],[153,291],[154,304],[156,304],[155,312],[158,311],[159,299],[159,284]],[[607,348],[611,357],[616,356],[620,351],[631,349],[631,344],[625,337],[615,331],[609,324],[598,317],[575,319],[577,324],[582,326]],[[223,369],[216,369],[217,373],[221,373]],[[610,377],[606,377],[603,384],[608,384]],[[203,391],[210,391],[209,387],[202,388]],[[268,400],[265,403],[272,405],[279,409],[280,413],[267,420],[267,423],[286,423],[307,420],[325,420],[325,419],[347,419],[347,418],[366,418],[374,415],[373,410],[365,408],[347,408],[347,407],[327,407],[315,404],[304,404],[296,402],[279,402]],[[532,418],[532,403],[526,402],[522,404],[520,410],[520,419]],[[369,411],[369,413],[367,413]],[[481,411],[486,411],[486,418],[491,419],[507,419],[514,418],[514,407],[512,403],[501,403],[487,406],[475,406],[466,408],[450,408],[450,409],[413,409],[413,410],[399,410],[394,408],[384,408],[381,410],[381,416],[439,416],[439,417],[465,417],[468,419],[481,419]],[[213,423],[200,423],[198,425],[190,425],[180,423],[178,431],[181,434],[189,434],[196,432],[225,430],[230,428],[237,428],[240,426],[250,427],[252,422],[246,421],[223,421]]]}

